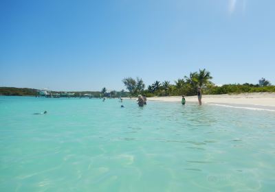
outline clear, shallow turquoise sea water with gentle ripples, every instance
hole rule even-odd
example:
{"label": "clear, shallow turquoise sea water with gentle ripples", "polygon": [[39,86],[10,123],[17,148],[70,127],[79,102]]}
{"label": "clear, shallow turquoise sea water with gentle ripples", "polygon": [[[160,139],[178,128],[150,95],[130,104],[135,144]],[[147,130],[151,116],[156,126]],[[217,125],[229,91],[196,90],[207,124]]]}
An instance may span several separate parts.
{"label": "clear, shallow turquoise sea water with gentle ripples", "polygon": [[120,105],[0,97],[0,191],[274,191],[275,112]]}

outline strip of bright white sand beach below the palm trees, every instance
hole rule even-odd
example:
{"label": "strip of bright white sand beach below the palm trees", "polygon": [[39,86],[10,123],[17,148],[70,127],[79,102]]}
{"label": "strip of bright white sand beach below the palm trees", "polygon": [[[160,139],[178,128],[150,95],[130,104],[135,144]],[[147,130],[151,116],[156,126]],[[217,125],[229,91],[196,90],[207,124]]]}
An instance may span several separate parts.
{"label": "strip of bright white sand beach below the palm trees", "polygon": [[[197,96],[185,97],[186,104],[190,101],[198,102]],[[181,101],[181,96],[150,97],[148,101]],[[202,95],[203,104],[240,104],[253,106],[270,106],[275,108],[275,93],[241,93],[223,95]]]}

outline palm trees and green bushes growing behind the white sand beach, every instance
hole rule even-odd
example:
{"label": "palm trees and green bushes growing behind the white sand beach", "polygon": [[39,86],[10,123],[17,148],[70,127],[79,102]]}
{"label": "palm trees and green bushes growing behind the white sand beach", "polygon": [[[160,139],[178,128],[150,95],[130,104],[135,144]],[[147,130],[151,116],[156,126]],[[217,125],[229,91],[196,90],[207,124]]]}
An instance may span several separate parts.
{"label": "palm trees and green bushes growing behind the white sand beach", "polygon": [[174,96],[174,95],[196,95],[197,88],[203,89],[203,94],[226,94],[226,93],[252,93],[252,92],[275,92],[275,86],[272,86],[268,80],[261,78],[259,84],[224,84],[215,85],[211,80],[212,76],[206,69],[190,72],[184,78],[175,80],[173,84],[166,80],[164,82],[155,81],[145,88],[142,78],[126,77],[122,80],[124,86],[131,96],[145,94],[147,97],[153,96]]}

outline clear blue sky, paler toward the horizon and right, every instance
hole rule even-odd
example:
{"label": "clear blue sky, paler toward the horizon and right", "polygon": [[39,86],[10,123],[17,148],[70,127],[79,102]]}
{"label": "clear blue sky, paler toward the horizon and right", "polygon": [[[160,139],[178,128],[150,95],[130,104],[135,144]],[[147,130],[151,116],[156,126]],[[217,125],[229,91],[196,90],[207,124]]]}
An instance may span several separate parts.
{"label": "clear blue sky, paler toward the horizon and right", "polygon": [[[0,0],[0,86],[120,91],[210,71],[275,84],[274,0]],[[125,89],[125,88],[124,88]]]}

